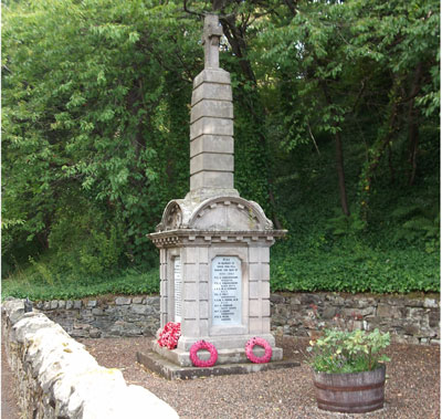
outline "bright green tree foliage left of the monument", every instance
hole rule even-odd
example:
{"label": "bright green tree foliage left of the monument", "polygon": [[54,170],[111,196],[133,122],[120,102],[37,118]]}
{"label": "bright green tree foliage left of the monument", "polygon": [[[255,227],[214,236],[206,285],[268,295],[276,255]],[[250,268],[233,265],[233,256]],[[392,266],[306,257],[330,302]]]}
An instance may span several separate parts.
{"label": "bright green tree foliage left of the monument", "polygon": [[[78,199],[103,221],[96,233],[82,237],[90,241],[82,243],[82,265],[91,272],[115,268],[118,255],[99,250],[108,253],[102,263],[94,253],[102,244],[119,248],[116,242],[124,243],[125,263],[151,264],[146,234],[187,186],[188,163],[181,161],[188,160],[182,127],[190,83],[183,72],[194,64],[186,57],[196,55],[198,42],[188,33],[193,21],[172,19],[177,11],[173,3],[107,0],[6,7],[2,197],[9,264],[46,251],[51,231],[64,223],[61,208],[78,211]],[[22,240],[32,243],[24,255]],[[70,252],[70,240],[56,245]]]}

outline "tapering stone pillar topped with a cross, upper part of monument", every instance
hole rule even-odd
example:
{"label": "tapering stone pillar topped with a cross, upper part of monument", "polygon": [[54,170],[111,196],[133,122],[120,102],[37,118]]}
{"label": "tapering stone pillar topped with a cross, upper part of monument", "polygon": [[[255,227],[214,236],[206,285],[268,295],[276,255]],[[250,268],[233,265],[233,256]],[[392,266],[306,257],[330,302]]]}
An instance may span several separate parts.
{"label": "tapering stone pillar topped with a cross, upper part of monument", "polygon": [[233,103],[230,74],[220,69],[218,15],[204,19],[204,70],[193,81],[190,112],[190,197],[239,196],[233,188]]}

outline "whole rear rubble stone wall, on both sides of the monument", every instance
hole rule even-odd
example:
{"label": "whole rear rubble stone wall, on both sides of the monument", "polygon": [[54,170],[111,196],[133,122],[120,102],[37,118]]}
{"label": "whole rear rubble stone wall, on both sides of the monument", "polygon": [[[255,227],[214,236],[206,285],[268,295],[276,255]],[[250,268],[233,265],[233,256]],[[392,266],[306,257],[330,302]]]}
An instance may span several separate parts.
{"label": "whole rear rubble stone wall, on both sides of the monument", "polygon": [[[390,332],[393,342],[439,344],[440,296],[390,296],[345,293],[274,293],[272,332],[309,336],[316,329],[312,304],[320,322],[336,314],[359,315],[356,327]],[[116,296],[39,302],[35,307],[61,324],[73,337],[155,335],[159,327],[158,296]]]}

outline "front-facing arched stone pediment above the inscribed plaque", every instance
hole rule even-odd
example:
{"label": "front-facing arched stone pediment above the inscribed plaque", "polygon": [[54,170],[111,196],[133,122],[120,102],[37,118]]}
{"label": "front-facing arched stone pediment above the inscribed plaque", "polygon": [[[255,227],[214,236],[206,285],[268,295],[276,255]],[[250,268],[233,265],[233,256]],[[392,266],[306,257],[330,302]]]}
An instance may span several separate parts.
{"label": "front-facing arched stone pediment above the inscribed plaque", "polygon": [[261,207],[240,197],[211,198],[198,206],[189,228],[197,230],[272,230]]}

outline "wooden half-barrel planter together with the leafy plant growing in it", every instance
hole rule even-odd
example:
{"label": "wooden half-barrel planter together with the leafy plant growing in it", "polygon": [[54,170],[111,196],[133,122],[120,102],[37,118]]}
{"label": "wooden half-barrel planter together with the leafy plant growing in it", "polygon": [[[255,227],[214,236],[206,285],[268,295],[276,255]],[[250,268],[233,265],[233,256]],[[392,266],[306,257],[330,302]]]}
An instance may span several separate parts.
{"label": "wooden half-barrel planter together with the leafy plant growing in it", "polygon": [[390,344],[390,334],[361,329],[361,314],[337,314],[334,327],[323,326],[312,307],[318,335],[309,342],[308,364],[313,368],[319,409],[364,413],[381,409],[385,400],[386,366],[381,350]]}

